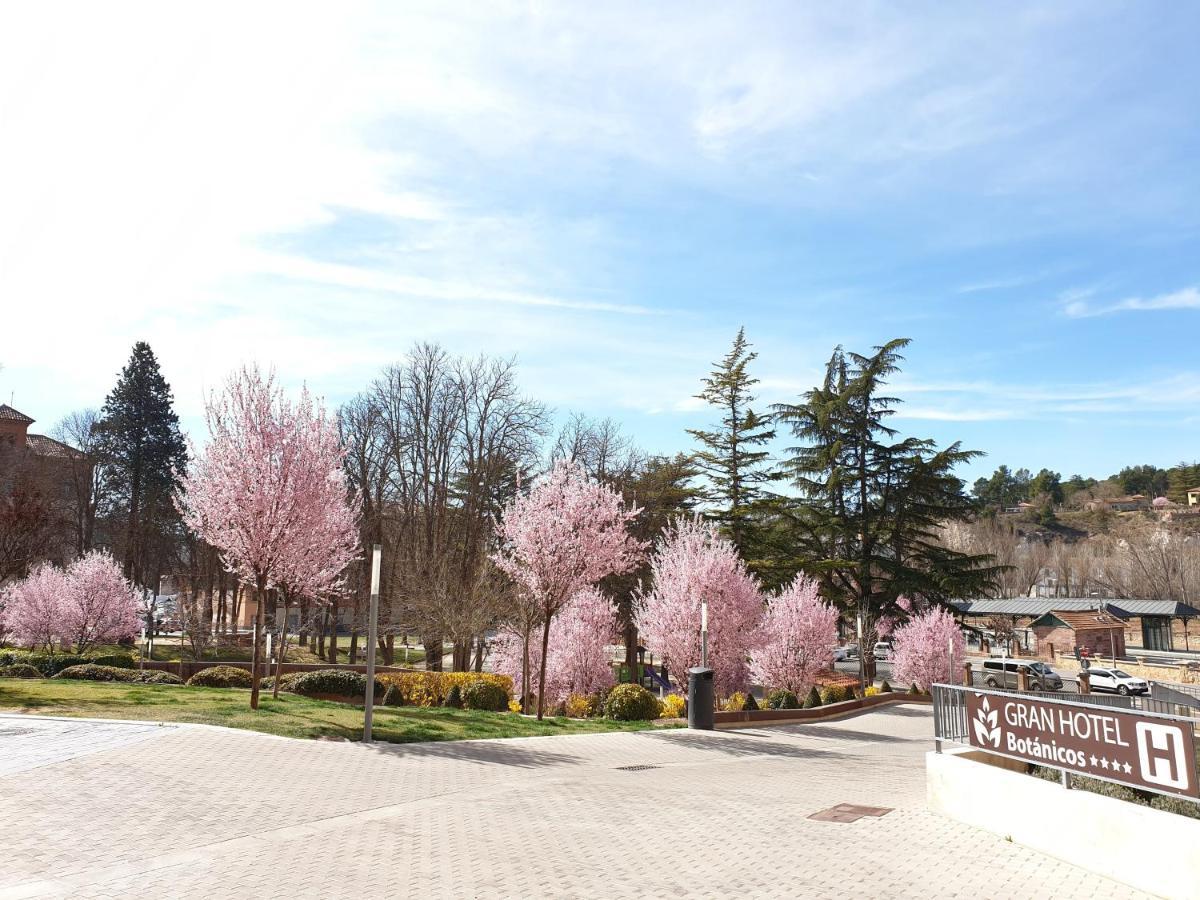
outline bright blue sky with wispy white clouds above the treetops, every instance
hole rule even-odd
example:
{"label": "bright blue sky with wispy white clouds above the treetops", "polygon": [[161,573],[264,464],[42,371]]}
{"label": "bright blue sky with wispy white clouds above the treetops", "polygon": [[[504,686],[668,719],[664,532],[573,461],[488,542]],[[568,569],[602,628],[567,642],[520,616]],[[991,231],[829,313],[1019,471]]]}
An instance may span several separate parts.
{"label": "bright blue sky with wispy white clouds above the treetops", "polygon": [[[900,426],[1064,475],[1200,457],[1200,7],[0,12],[0,396],[148,340],[336,403],[414,341],[655,451],[913,338]],[[10,340],[8,336],[16,340]]]}

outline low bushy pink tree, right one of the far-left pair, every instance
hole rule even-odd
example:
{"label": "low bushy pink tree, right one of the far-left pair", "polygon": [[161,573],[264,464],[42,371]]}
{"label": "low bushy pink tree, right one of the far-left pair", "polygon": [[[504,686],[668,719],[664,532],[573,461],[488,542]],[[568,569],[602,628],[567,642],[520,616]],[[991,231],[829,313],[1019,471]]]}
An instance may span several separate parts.
{"label": "low bushy pink tree, right one of the far-left pair", "polygon": [[59,635],[64,648],[83,653],[97,643],[132,637],[142,625],[138,592],[121,566],[104,551],[92,551],[66,571],[66,593],[59,606]]}

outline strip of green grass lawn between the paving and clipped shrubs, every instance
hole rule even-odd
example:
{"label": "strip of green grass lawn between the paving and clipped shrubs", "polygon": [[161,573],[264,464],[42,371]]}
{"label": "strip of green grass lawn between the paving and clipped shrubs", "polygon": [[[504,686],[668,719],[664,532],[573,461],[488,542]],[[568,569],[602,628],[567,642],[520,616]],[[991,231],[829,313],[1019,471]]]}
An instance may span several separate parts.
{"label": "strip of green grass lawn between the paving and clipped shrubs", "polygon": [[[250,691],[182,688],[167,684],[116,684],[67,679],[0,678],[0,712],[40,715],[133,719],[151,722],[200,722],[262,731],[289,738],[362,737],[362,709],[343,703],[265,694],[258,712]],[[587,734],[638,731],[650,722],[605,719],[546,719],[541,722],[510,713],[420,707],[376,707],[376,740],[466,740],[523,738],[539,734]]]}

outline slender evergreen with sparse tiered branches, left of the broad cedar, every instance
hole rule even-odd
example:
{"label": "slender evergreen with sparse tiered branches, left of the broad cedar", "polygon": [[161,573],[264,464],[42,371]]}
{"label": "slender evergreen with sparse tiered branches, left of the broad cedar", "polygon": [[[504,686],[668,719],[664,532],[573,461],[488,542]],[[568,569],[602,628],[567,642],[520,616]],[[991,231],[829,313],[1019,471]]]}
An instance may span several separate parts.
{"label": "slender evergreen with sparse tiered branches, left of the broad cedar", "polygon": [[750,376],[750,364],[757,356],[750,350],[745,329],[738,329],[733,347],[714,364],[704,389],[696,395],[721,412],[720,425],[712,431],[688,430],[702,445],[694,460],[708,480],[704,499],[714,508],[710,516],[726,529],[743,558],[752,554],[754,505],[763,497],[763,485],[773,479],[763,448],[775,437],[775,428],[769,416],[752,408],[751,388],[758,379]]}

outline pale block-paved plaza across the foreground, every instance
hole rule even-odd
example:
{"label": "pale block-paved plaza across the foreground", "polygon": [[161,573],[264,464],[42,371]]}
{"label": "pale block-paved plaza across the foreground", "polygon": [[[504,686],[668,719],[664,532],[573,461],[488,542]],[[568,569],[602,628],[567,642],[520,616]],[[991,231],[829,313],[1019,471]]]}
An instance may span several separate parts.
{"label": "pale block-paved plaza across the foreground", "polygon": [[[928,812],[930,719],[367,746],[2,716],[0,898],[1139,896]],[[893,811],[809,818],[842,803]]]}

